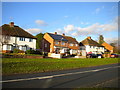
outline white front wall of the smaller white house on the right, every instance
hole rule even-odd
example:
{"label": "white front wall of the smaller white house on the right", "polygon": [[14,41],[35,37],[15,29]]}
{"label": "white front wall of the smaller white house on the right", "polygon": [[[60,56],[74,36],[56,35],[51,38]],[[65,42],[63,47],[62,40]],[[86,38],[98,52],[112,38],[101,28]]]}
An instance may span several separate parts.
{"label": "white front wall of the smaller white house on the right", "polygon": [[[88,52],[92,52],[92,53],[101,53],[101,52],[103,52],[104,53],[104,47],[97,47],[97,46],[94,46],[94,48],[93,48],[93,46],[89,46],[89,45],[86,45],[85,46],[86,47],[86,52],[88,53]],[[98,49],[97,49],[98,48]]]}

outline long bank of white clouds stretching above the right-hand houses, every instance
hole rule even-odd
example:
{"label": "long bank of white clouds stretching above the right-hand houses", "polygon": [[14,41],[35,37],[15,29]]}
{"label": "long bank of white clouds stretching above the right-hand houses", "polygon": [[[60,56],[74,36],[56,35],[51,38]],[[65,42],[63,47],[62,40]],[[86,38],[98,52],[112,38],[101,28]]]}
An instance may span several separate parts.
{"label": "long bank of white clouds stretching above the right-hand houses", "polygon": [[59,34],[65,33],[72,36],[87,36],[87,35],[104,35],[112,31],[118,30],[118,17],[112,20],[109,24],[95,23],[87,27],[76,27],[74,25],[66,25],[65,27],[56,30]]}

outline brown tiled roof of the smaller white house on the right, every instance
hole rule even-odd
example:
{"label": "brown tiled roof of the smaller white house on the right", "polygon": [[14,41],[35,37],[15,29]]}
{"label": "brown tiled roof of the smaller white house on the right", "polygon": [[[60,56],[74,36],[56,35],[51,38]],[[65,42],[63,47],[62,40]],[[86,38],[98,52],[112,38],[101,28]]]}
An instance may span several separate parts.
{"label": "brown tiled roof of the smaller white house on the right", "polygon": [[92,39],[88,39],[88,38],[86,38],[85,40],[81,41],[80,43],[82,43],[83,45],[103,47],[102,45],[100,45],[96,41],[94,41]]}

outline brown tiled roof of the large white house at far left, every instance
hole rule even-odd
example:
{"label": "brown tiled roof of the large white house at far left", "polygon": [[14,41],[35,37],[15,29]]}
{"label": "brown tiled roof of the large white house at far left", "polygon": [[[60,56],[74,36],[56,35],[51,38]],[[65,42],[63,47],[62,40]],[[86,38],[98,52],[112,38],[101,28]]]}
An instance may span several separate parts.
{"label": "brown tiled roof of the large white house at far left", "polygon": [[[16,37],[26,37],[26,38],[35,38],[30,33],[26,32],[19,26],[14,25],[14,27],[10,27],[8,24],[4,24],[1,26],[0,32],[2,30],[2,35],[16,36]],[[1,34],[1,33],[0,33]]]}

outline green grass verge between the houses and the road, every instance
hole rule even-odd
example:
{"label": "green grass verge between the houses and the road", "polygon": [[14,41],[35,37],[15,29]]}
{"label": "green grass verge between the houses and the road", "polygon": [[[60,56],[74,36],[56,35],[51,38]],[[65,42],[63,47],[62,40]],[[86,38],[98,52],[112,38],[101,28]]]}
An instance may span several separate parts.
{"label": "green grass verge between the houses and the road", "polygon": [[118,63],[118,58],[90,58],[90,59],[27,59],[27,58],[3,58],[2,74],[38,73],[65,69],[75,69],[90,66]]}

